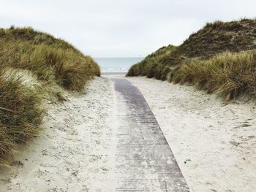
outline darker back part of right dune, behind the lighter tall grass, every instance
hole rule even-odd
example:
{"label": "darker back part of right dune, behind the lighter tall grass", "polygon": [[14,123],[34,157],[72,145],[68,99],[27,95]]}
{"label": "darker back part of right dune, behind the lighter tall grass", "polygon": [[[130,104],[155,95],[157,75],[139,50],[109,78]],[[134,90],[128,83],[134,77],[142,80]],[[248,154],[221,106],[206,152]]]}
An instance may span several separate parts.
{"label": "darker back part of right dune, behind the lighter tall grass", "polygon": [[[219,53],[255,50],[256,19],[206,23],[178,47],[169,45],[131,66],[127,76],[146,76],[166,80],[189,61],[206,60]],[[171,74],[171,75],[170,75]]]}

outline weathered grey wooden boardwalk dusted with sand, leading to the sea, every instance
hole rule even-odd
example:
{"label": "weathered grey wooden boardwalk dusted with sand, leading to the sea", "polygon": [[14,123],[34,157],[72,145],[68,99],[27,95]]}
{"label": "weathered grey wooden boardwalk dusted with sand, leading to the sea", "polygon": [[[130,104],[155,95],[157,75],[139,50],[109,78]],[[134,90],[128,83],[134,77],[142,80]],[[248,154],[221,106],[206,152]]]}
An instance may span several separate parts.
{"label": "weathered grey wooden boardwalk dusted with sand, leading to the sea", "polygon": [[143,95],[128,80],[113,81],[119,121],[116,191],[189,191]]}

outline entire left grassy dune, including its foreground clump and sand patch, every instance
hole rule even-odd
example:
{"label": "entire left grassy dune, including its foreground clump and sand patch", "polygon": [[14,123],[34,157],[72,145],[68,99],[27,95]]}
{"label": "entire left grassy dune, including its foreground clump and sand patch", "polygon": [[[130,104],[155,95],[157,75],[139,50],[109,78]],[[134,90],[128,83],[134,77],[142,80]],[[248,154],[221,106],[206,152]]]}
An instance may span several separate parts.
{"label": "entire left grassy dune, including its foreground clump and sand patch", "polygon": [[[56,87],[81,91],[100,75],[91,57],[32,28],[0,29],[0,67],[0,159],[37,136],[44,113],[42,95],[60,99]],[[26,78],[26,72],[33,77]]]}

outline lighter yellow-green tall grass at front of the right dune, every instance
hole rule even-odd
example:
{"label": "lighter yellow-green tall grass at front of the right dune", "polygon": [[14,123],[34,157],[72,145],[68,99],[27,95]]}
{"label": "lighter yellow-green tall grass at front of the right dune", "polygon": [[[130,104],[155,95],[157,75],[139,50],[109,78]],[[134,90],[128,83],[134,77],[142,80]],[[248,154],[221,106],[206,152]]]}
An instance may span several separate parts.
{"label": "lighter yellow-green tall grass at front of the right dune", "polygon": [[191,61],[176,70],[174,82],[188,82],[225,99],[256,97],[256,50],[222,53],[205,61]]}

